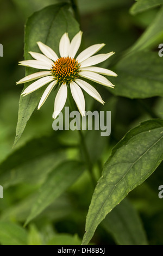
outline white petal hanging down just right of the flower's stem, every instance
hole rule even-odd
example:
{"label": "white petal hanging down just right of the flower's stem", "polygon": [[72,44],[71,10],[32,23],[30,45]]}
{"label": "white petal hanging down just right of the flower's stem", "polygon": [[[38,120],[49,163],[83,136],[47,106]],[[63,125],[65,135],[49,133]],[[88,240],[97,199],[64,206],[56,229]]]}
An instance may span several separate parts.
{"label": "white petal hanging down just right of the flower's stem", "polygon": [[77,104],[80,114],[85,115],[85,99],[82,90],[78,86],[76,82],[70,83],[70,89],[73,96],[74,101]]}

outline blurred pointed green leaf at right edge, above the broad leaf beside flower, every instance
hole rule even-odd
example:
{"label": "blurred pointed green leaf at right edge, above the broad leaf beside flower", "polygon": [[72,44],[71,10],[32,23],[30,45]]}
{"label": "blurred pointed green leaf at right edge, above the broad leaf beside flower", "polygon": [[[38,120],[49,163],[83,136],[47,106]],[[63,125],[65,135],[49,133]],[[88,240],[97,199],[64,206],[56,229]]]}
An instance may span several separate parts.
{"label": "blurred pointed green leaf at right edge, above the broad leaf beside flower", "polygon": [[140,38],[135,42],[129,52],[141,51],[146,48],[156,47],[163,40],[163,7],[160,8],[155,19],[148,26],[146,31],[140,36]]}

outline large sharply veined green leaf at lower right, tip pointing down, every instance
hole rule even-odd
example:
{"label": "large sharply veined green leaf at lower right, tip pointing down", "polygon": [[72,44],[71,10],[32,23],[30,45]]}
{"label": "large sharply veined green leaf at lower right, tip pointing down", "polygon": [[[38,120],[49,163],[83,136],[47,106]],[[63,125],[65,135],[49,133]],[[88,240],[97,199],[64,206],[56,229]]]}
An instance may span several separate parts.
{"label": "large sharply veined green leaf at lower right, tip pointing down", "polygon": [[115,146],[92,196],[83,245],[89,243],[105,216],[159,166],[162,148],[162,119],[141,123]]}

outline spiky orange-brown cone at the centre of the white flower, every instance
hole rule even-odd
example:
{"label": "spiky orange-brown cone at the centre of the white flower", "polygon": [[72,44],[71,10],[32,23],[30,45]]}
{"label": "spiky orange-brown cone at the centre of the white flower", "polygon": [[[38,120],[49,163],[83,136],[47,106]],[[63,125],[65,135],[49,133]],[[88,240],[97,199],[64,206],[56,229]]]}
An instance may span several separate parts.
{"label": "spiky orange-brown cone at the centre of the white flower", "polygon": [[70,83],[78,78],[80,65],[71,57],[61,57],[52,65],[52,74],[59,82]]}

